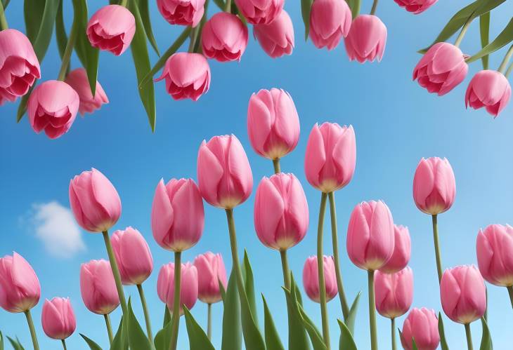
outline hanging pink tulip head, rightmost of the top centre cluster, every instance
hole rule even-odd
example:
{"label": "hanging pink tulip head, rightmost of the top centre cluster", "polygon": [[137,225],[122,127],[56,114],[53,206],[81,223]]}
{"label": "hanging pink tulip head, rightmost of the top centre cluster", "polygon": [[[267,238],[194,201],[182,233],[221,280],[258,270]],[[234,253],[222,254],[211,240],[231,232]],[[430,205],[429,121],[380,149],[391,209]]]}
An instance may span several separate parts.
{"label": "hanging pink tulip head, rightmost of the top centre cluster", "polygon": [[350,61],[379,62],[387,45],[387,26],[375,15],[358,15],[344,43]]}

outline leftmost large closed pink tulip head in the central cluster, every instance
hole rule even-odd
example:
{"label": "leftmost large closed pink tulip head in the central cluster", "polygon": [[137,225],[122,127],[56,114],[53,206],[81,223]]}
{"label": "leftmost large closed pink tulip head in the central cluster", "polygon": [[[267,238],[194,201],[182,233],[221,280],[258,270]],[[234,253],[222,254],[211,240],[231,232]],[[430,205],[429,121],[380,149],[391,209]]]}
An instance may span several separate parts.
{"label": "leftmost large closed pink tulip head in the central cluster", "polygon": [[160,180],[151,209],[153,238],[167,250],[181,252],[200,241],[204,209],[193,179]]}

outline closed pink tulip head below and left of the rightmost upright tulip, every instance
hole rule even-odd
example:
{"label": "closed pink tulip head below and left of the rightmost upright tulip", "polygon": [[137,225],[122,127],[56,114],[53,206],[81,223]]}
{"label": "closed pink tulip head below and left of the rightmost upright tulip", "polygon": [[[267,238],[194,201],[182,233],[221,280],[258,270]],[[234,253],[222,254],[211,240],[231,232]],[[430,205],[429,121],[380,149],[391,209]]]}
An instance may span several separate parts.
{"label": "closed pink tulip head below and left of the rightmost upright tulip", "polygon": [[446,269],[440,282],[443,312],[457,323],[467,324],[483,316],[486,310],[486,287],[475,266]]}

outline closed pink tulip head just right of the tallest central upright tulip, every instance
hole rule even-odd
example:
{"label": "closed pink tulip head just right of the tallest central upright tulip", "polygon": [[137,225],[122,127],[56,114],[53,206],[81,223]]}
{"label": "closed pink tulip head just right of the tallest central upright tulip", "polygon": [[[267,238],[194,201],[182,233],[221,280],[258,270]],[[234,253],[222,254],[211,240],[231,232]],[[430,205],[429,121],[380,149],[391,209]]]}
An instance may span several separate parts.
{"label": "closed pink tulip head just right of the tallest central upright tulip", "polygon": [[306,180],[325,193],[346,186],[356,166],[356,140],[352,126],[323,123],[313,126],[304,160]]}

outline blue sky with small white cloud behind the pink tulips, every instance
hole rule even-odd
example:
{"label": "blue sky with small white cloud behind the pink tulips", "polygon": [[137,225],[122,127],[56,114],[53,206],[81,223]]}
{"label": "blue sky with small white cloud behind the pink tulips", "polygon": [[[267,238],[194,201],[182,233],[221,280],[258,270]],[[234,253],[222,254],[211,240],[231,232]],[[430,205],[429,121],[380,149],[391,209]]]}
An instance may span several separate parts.
{"label": "blue sky with small white cloud behind the pink tulips", "polygon": [[[98,1],[89,2],[91,13],[100,6]],[[164,51],[181,28],[163,20],[155,1],[150,1],[150,5],[157,42]],[[370,5],[370,1],[363,1],[363,12],[370,11]],[[297,149],[282,161],[282,169],[294,173],[302,182],[310,206],[309,232],[304,241],[289,252],[297,279],[301,279],[306,257],[315,254],[320,201],[320,194],[309,187],[304,177],[307,137],[316,122],[352,124],[358,149],[356,172],[352,182],[336,194],[339,245],[345,247],[346,225],[353,206],[360,201],[382,198],[391,208],[394,221],[410,228],[410,266],[415,274],[413,306],[440,310],[431,220],[417,210],[412,198],[413,174],[418,161],[422,157],[446,156],[455,172],[456,201],[453,208],[439,216],[444,267],[476,263],[475,241],[479,228],[493,223],[511,223],[513,213],[513,104],[510,103],[495,120],[483,110],[465,110],[465,88],[472,75],[481,69],[480,62],[470,66],[464,83],[443,97],[430,95],[411,80],[413,67],[420,59],[416,51],[434,39],[460,6],[460,1],[439,1],[425,13],[412,15],[393,1],[382,1],[377,15],[388,29],[384,58],[380,63],[360,65],[349,62],[342,43],[328,52],[316,49],[311,41],[305,42],[299,4],[287,1],[285,9],[291,15],[296,36],[294,53],[277,60],[268,58],[250,35],[247,51],[240,63],[210,61],[212,84],[207,95],[196,103],[171,100],[165,92],[164,82],[156,83],[155,133],[151,133],[138,99],[129,52],[120,57],[100,54],[98,79],[108,94],[110,104],[93,115],[77,117],[70,132],[58,140],[36,135],[26,117],[16,124],[17,104],[1,107],[0,255],[17,251],[32,264],[39,276],[41,302],[33,313],[41,348],[60,347],[58,342],[44,337],[40,324],[42,301],[55,296],[69,296],[77,314],[78,331],[68,340],[68,349],[86,348],[78,332],[103,346],[108,343],[103,318],[87,311],[79,291],[80,264],[106,258],[107,255],[101,236],[77,230],[70,220],[65,220],[70,178],[91,167],[105,173],[117,187],[123,203],[122,217],[115,228],[124,229],[131,225],[147,238],[155,259],[155,271],[144,288],[156,332],[162,324],[163,313],[163,304],[156,292],[157,273],[162,264],[172,259],[171,253],[153,241],[150,230],[151,203],[157,182],[161,177],[164,180],[195,177],[200,142],[213,135],[228,133],[237,135],[245,147],[255,187],[261,177],[270,175],[273,170],[271,161],[252,151],[246,130],[249,96],[261,88],[278,87],[289,91],[301,121]],[[214,11],[214,8],[210,6],[209,11]],[[507,1],[500,11],[493,11],[491,36],[502,30],[512,10],[513,4]],[[69,26],[70,8],[66,8],[65,13]],[[22,1],[12,1],[6,15],[11,27],[24,30]],[[477,23],[474,23],[462,43],[465,53],[479,50],[478,33]],[[492,68],[498,67],[504,54],[505,50],[502,50],[491,57]],[[155,61],[156,57],[152,55],[152,62]],[[76,57],[72,58],[72,65],[77,67]],[[56,79],[59,66],[56,44],[52,42],[41,65],[43,79]],[[280,258],[277,252],[261,245],[254,233],[253,202],[254,194],[235,210],[239,249],[242,252],[243,247],[247,248],[257,292],[266,296],[286,343],[287,316],[280,289]],[[212,250],[223,254],[230,269],[226,217],[221,210],[207,204],[205,209],[203,237],[194,248],[183,254],[183,260],[193,260],[195,255]],[[61,213],[61,220],[48,224],[45,217],[52,218],[51,213],[56,211]],[[326,228],[329,229],[329,224]],[[325,252],[330,253],[330,232],[326,230],[325,235]],[[57,238],[59,245],[53,243],[56,236],[60,237]],[[356,342],[359,349],[369,349],[366,274],[351,264],[345,249],[342,249],[341,258],[347,295],[352,299],[359,290],[364,293],[356,319]],[[511,322],[513,311],[505,288],[489,285],[488,292],[495,349],[505,349],[513,342],[513,334],[504,332],[503,327]],[[134,297],[134,308],[142,322],[136,289],[126,288],[126,293]],[[336,344],[336,318],[341,317],[337,298],[330,302],[328,308],[332,343]],[[260,313],[262,309],[259,303]],[[320,325],[318,304],[308,300],[305,309]],[[112,314],[113,323],[119,321],[120,312],[118,309]],[[214,305],[215,346],[221,343],[221,314],[221,304]],[[198,302],[193,308],[193,315],[205,325],[206,305]],[[259,316],[261,321],[262,314]],[[451,349],[464,349],[463,326],[445,319]],[[403,317],[398,325],[402,327],[402,323]],[[378,316],[377,325],[380,349],[388,349],[389,320]],[[27,325],[21,314],[0,310],[0,329],[7,335],[17,335],[22,344],[30,347]],[[474,344],[479,344],[481,325],[472,325],[472,331]],[[179,349],[187,349],[183,323],[178,344]]]}

